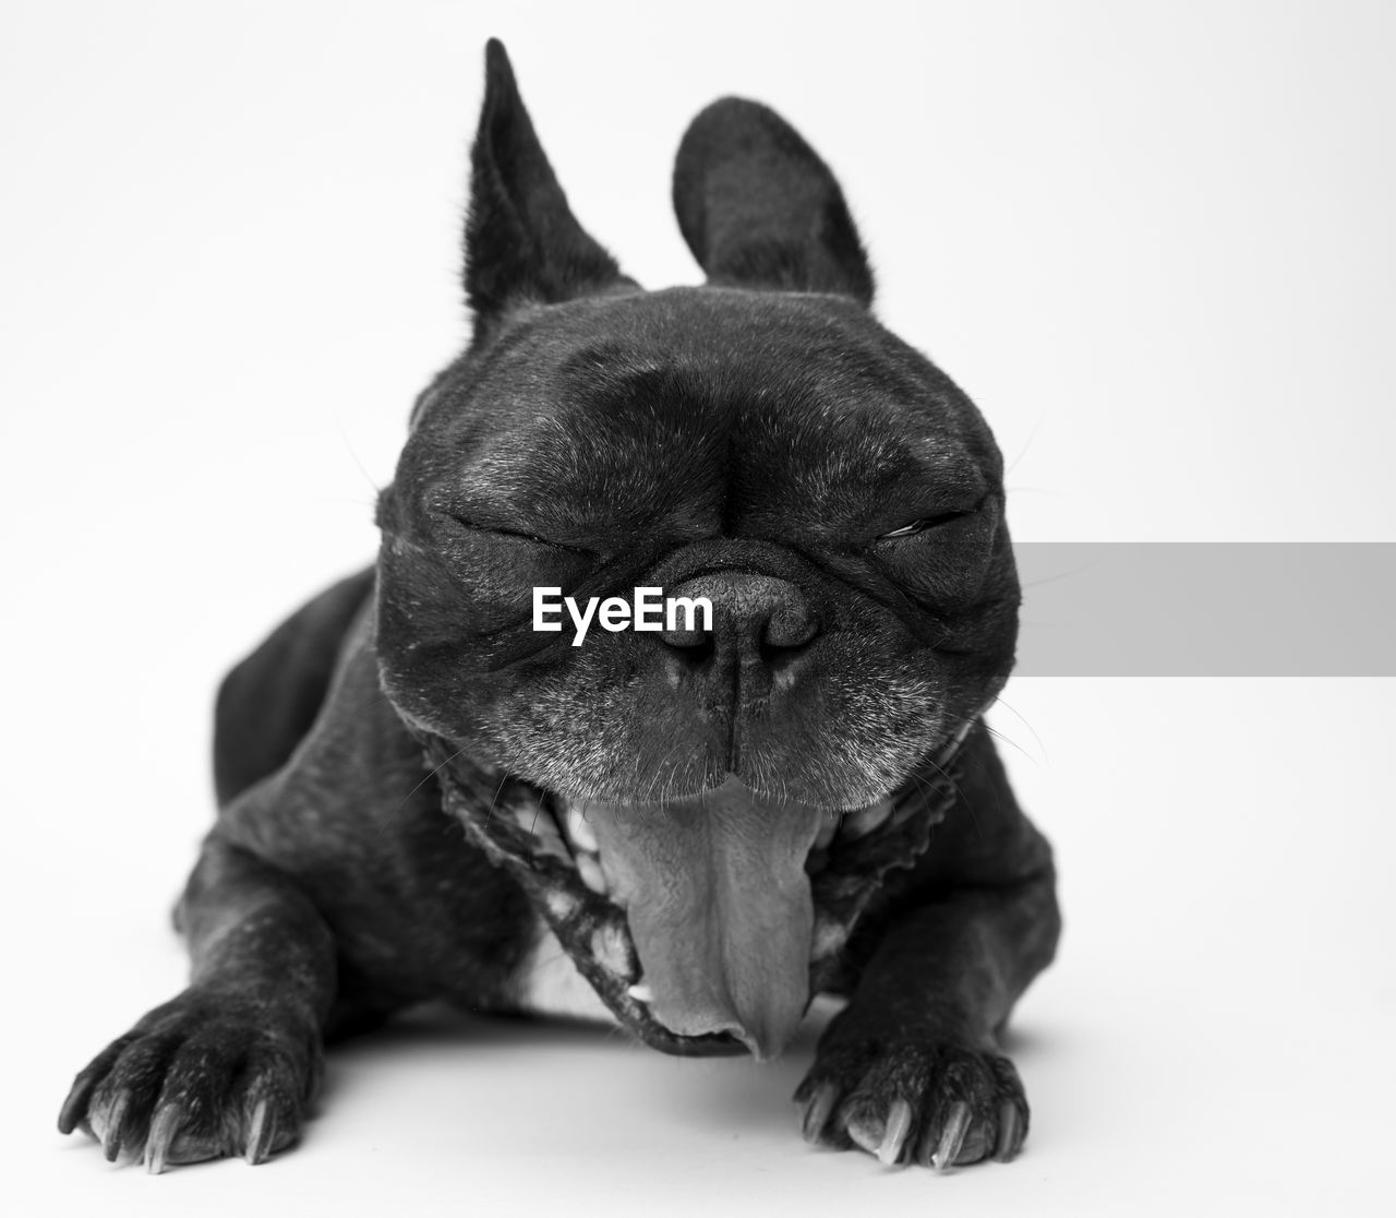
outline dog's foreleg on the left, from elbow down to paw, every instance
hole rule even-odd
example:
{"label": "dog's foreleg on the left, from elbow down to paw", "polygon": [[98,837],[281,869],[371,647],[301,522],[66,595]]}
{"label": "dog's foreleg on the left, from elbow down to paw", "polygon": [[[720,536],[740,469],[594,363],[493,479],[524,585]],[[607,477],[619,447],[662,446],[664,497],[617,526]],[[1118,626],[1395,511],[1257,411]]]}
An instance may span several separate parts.
{"label": "dog's foreleg on the left, from elbow down to paw", "polygon": [[292,1143],[320,1083],[335,996],[329,929],[292,880],[215,830],[180,907],[190,986],[78,1074],[59,1129],[107,1159],[166,1164]]}

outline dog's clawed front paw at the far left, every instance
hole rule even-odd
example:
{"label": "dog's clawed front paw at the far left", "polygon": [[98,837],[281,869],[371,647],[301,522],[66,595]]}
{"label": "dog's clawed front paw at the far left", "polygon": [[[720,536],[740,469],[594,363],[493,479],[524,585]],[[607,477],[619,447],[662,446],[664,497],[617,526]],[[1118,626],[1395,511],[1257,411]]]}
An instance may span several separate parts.
{"label": "dog's clawed front paw at the far left", "polygon": [[300,1134],[320,1034],[274,1003],[190,989],[156,1007],[73,1083],[59,1129],[151,1172],[221,1155],[260,1164]]}

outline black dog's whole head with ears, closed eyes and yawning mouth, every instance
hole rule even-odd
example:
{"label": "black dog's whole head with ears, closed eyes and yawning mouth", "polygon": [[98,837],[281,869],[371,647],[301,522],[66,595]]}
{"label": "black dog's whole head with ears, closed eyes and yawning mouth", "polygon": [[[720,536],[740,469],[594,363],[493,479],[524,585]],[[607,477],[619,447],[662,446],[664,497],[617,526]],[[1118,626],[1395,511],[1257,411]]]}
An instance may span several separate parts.
{"label": "black dog's whole head with ears, closed eyes and yawning mouth", "polygon": [[[1011,668],[1018,582],[988,427],[870,314],[824,162],[726,99],[673,193],[708,284],[645,292],[572,217],[490,45],[475,334],[380,503],[378,652],[617,1014],[662,1048],[766,1053],[856,916],[811,876],[931,816],[921,779]],[[659,588],[711,629],[593,620],[574,645],[567,613],[535,629],[536,588]]]}

